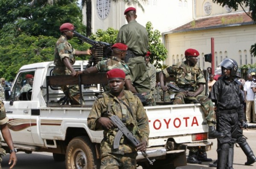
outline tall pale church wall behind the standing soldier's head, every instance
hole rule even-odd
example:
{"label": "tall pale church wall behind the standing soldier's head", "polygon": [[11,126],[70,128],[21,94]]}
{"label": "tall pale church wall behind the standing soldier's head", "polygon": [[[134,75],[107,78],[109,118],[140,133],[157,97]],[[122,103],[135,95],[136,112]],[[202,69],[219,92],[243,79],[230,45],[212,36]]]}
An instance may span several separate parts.
{"label": "tall pale church wall behind the standing soldier's head", "polygon": [[[101,0],[102,1],[102,0]],[[174,29],[185,24],[193,18],[192,3],[194,0],[148,0],[148,3],[142,3],[144,12],[137,6],[137,22],[145,26],[150,21],[154,29],[161,33]],[[92,0],[92,32],[97,29],[106,30],[108,27],[119,29],[125,25],[124,11],[130,7],[124,3],[111,3],[108,17],[102,19],[96,10],[97,0]],[[86,25],[86,11],[83,9],[83,22]]]}

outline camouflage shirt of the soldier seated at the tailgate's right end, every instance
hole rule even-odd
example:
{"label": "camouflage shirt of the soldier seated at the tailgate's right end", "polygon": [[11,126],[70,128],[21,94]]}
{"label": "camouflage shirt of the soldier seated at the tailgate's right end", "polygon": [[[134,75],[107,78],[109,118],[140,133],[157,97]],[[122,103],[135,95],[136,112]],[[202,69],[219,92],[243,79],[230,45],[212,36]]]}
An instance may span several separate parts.
{"label": "camouflage shirt of the soldier seated at the tailgate's right end", "polygon": [[189,66],[185,62],[179,62],[166,69],[163,69],[163,74],[166,77],[175,76],[177,86],[198,86],[199,83],[206,84],[203,70],[195,66]]}

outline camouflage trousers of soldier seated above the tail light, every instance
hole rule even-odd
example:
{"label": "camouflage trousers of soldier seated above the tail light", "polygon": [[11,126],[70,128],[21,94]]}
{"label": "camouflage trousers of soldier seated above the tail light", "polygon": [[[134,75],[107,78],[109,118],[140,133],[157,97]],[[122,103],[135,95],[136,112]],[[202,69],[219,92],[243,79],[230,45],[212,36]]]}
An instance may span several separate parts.
{"label": "camouflage trousers of soldier seated above the tail light", "polygon": [[214,106],[212,100],[210,100],[205,95],[198,95],[197,97],[186,97],[183,93],[179,92],[175,95],[175,100],[173,104],[185,104],[185,103],[195,103],[198,101],[204,110],[204,116],[207,120],[209,126],[215,126],[216,115],[214,111]]}

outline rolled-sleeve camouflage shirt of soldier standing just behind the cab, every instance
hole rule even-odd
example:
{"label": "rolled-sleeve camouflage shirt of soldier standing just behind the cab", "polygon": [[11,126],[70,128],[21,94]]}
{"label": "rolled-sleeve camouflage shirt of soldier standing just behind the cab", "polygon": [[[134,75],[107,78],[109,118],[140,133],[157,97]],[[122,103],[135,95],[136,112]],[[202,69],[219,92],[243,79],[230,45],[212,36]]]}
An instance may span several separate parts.
{"label": "rolled-sleeve camouflage shirt of soldier standing just behind the cab", "polygon": [[55,45],[54,51],[54,73],[55,74],[65,74],[65,70],[67,69],[65,64],[63,63],[63,59],[67,57],[73,65],[76,61],[75,58],[76,50],[72,48],[71,44],[68,43],[67,39],[61,35]]}

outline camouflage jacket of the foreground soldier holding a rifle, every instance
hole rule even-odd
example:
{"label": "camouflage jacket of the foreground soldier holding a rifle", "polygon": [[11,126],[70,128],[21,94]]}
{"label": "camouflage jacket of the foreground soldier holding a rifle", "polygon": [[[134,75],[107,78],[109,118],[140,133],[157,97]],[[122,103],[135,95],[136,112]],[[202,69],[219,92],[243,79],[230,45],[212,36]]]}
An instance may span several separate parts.
{"label": "camouflage jacket of the foreground soldier holding a rifle", "polygon": [[[96,121],[100,117],[111,117],[112,115],[118,116],[125,126],[133,133],[138,140],[145,140],[148,142],[149,126],[148,116],[145,109],[137,96],[134,96],[130,91],[124,90],[124,96],[121,98],[123,102],[129,105],[131,103],[131,110],[134,113],[135,119],[127,109],[127,107],[120,102],[110,92],[104,92],[103,96],[97,98],[93,104],[91,112],[87,118],[87,125],[91,130],[104,130],[104,138],[101,143],[101,152],[112,152],[116,154],[125,154],[136,152],[135,147],[124,136],[121,137],[119,148],[113,149],[113,140],[116,136],[117,129],[103,129],[102,126],[96,128]],[[108,109],[109,100],[111,99],[110,109]],[[108,110],[110,113],[108,113]]]}

